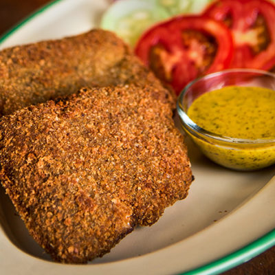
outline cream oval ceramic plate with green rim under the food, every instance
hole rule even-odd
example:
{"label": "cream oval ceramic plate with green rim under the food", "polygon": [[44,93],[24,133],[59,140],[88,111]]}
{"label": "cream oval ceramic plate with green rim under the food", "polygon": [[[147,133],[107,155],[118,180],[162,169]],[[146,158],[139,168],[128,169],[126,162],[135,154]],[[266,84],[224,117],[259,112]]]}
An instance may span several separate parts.
{"label": "cream oval ceramic plate with green rim under the food", "polygon": [[[5,34],[0,47],[85,32],[96,27],[108,5],[54,1]],[[208,161],[190,141],[188,148],[195,175],[188,197],[88,265],[53,263],[0,187],[0,273],[219,274],[275,245],[275,167],[235,172]]]}

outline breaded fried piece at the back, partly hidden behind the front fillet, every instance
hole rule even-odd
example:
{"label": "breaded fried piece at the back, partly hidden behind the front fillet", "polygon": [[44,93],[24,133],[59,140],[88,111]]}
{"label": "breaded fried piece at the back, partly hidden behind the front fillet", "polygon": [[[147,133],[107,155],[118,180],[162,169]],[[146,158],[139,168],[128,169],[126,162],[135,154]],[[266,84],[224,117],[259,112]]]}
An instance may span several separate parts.
{"label": "breaded fried piece at the back, partly hidden behind the front fillet", "polygon": [[0,115],[85,86],[148,81],[159,85],[129,47],[104,30],[10,47],[0,52]]}

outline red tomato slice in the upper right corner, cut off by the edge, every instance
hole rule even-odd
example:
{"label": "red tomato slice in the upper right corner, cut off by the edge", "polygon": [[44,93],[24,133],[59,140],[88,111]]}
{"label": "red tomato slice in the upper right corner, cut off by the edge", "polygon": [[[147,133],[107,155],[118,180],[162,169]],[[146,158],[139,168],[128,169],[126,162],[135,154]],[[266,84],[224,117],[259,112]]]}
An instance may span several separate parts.
{"label": "red tomato slice in the upper right corner, cut off by the edge", "polygon": [[230,67],[273,67],[270,64],[275,56],[273,3],[265,0],[218,0],[204,14],[222,21],[232,32],[234,56]]}

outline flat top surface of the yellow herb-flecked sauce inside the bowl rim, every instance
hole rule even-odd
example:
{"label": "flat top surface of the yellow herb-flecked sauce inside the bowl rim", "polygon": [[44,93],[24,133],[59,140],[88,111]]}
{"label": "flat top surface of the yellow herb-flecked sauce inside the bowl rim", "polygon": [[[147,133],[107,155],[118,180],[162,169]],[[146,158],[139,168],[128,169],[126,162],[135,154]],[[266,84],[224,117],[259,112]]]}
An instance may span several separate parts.
{"label": "flat top surface of the yellow herb-flecked sauce inside the bowl rim", "polygon": [[261,87],[224,87],[197,98],[188,116],[201,128],[223,136],[275,137],[275,92]]}

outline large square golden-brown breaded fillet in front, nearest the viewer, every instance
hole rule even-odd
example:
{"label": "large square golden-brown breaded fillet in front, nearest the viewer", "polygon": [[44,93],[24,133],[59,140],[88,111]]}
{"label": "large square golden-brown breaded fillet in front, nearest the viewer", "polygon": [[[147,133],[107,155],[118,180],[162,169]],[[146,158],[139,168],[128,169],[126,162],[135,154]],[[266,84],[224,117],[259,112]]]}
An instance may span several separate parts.
{"label": "large square golden-brown breaded fillet in front, nearest the viewer", "polygon": [[55,261],[86,263],[151,225],[192,181],[154,85],[83,88],[0,120],[0,179]]}

